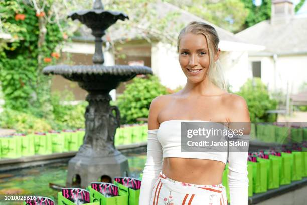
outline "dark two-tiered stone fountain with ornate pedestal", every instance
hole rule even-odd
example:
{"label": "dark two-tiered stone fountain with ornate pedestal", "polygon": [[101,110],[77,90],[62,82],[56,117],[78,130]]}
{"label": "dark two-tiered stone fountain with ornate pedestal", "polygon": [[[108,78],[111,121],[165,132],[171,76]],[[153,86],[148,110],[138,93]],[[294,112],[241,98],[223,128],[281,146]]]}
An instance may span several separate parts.
{"label": "dark two-tiered stone fountain with ornate pedestal", "polygon": [[[146,66],[114,65],[104,66],[102,36],[105,30],[118,19],[129,19],[121,12],[104,10],[100,0],[95,0],[93,9],[72,12],[68,16],[78,19],[92,29],[95,36],[93,65],[55,65],[43,69],[46,75],[62,75],[78,82],[89,94],[89,105],[85,111],[85,135],[83,145],[68,164],[66,186],[76,186],[77,180],[82,188],[98,179],[112,182],[115,176],[129,176],[127,158],[114,146],[116,129],[120,126],[120,112],[117,106],[110,106],[109,92],[116,89],[120,82],[128,81],[138,74],[152,74]],[[115,111],[115,114],[113,114]]]}

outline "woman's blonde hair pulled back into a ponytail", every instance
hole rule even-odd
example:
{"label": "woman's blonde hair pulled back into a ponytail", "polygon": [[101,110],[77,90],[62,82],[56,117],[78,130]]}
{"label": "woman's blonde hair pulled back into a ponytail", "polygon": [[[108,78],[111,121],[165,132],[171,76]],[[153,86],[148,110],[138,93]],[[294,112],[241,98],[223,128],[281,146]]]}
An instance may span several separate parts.
{"label": "woman's blonde hair pulled back into a ponytail", "polygon": [[177,52],[179,52],[179,43],[183,35],[187,33],[193,34],[202,34],[206,37],[207,45],[209,49],[209,70],[208,70],[208,79],[216,86],[222,90],[226,90],[226,82],[224,80],[222,68],[219,60],[214,61],[214,56],[218,51],[218,45],[220,39],[218,34],[212,26],[204,22],[190,22],[185,28],[183,28],[178,36],[177,40]]}

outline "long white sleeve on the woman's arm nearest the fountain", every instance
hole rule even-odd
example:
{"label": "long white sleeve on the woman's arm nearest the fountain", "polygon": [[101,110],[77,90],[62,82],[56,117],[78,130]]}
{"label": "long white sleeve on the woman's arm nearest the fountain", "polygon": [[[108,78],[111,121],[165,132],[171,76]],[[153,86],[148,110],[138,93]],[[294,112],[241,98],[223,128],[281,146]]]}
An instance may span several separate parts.
{"label": "long white sleeve on the woman's arm nearest the fountain", "polygon": [[143,178],[139,194],[139,205],[147,205],[150,202],[152,189],[162,170],[163,152],[157,138],[158,129],[148,130],[147,160],[143,171]]}

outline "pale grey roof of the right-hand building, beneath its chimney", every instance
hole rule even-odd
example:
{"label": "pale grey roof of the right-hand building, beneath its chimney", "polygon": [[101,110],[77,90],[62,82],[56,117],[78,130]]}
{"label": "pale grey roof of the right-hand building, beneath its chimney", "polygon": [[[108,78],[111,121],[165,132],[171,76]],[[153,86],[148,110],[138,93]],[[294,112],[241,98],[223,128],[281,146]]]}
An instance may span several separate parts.
{"label": "pale grey roof of the right-hand building, beneath its chimney", "polygon": [[266,47],[263,52],[276,54],[307,53],[307,17],[296,15],[289,23],[262,21],[235,36]]}

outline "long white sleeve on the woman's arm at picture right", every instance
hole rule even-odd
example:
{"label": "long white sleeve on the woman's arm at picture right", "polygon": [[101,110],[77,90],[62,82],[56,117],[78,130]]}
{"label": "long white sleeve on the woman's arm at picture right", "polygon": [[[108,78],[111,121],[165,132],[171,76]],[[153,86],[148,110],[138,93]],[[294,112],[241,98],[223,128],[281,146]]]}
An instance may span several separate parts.
{"label": "long white sleeve on the woman's arm at picture right", "polygon": [[[243,139],[244,141],[249,142],[249,135],[243,135]],[[238,151],[238,150],[235,151],[235,150],[237,150],[237,147],[229,149],[228,153],[228,164],[229,164],[228,184],[229,184],[229,193],[230,193],[230,204],[247,205],[248,204],[248,177],[247,177],[248,152]]]}

